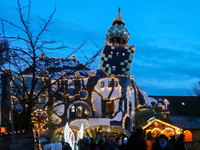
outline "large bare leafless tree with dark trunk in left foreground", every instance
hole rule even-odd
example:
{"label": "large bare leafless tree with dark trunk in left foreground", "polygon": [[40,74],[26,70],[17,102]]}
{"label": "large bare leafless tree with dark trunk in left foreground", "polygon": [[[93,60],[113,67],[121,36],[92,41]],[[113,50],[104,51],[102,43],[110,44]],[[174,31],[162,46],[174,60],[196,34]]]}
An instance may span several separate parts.
{"label": "large bare leafless tree with dark trunk in left foreground", "polygon": [[[44,53],[45,50],[68,48],[73,50],[73,52],[70,54],[72,55],[74,52],[80,50],[88,39],[91,39],[88,38],[87,40],[84,40],[78,48],[70,48],[68,46],[51,48],[50,45],[54,45],[57,42],[54,40],[46,41],[42,39],[42,35],[44,34],[44,32],[48,32],[48,27],[51,23],[56,8],[53,10],[52,14],[47,20],[38,17],[38,19],[40,20],[40,29],[37,30],[32,29],[30,22],[31,1],[29,0],[28,6],[22,7],[20,1],[17,0],[17,5],[22,26],[18,26],[13,22],[5,19],[1,20],[5,23],[12,25],[24,35],[18,35],[17,37],[6,37],[7,39],[20,40],[27,45],[26,48],[15,46],[11,49],[10,65],[13,68],[11,74],[11,86],[13,99],[17,100],[17,102],[20,103],[20,107],[22,109],[25,131],[32,132],[31,113],[38,103],[38,98],[41,98],[44,94],[48,95],[48,101],[45,102],[45,106],[47,106],[48,109],[51,110],[53,97],[56,93],[54,92],[53,94],[53,92],[51,91],[51,87],[59,79],[62,78],[62,76],[58,74],[49,75],[47,70],[44,70],[44,68],[38,66],[37,60],[40,58],[39,54]],[[25,10],[27,10],[27,13],[24,13]],[[100,54],[100,52],[101,49],[98,48],[97,53],[95,53],[91,58],[87,58],[86,64],[90,65]],[[28,70],[29,76],[24,75],[25,71],[27,71],[25,69],[27,66],[30,66]],[[57,76],[57,79],[52,82],[52,79],[55,78],[55,76]],[[19,105],[17,104],[16,106],[19,107]]]}

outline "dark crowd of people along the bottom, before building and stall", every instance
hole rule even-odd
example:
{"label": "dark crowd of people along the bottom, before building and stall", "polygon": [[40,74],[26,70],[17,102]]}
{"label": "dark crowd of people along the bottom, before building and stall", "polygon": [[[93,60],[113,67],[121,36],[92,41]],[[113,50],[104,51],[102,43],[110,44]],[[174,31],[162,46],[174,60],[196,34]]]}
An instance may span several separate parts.
{"label": "dark crowd of people along the bottom, before building and stall", "polygon": [[77,147],[78,150],[186,150],[183,141],[184,134],[181,134],[177,140],[173,137],[168,139],[161,134],[159,137],[152,138],[151,144],[148,144],[142,127],[137,126],[130,137],[124,134],[99,136],[97,140],[84,137],[79,140]]}

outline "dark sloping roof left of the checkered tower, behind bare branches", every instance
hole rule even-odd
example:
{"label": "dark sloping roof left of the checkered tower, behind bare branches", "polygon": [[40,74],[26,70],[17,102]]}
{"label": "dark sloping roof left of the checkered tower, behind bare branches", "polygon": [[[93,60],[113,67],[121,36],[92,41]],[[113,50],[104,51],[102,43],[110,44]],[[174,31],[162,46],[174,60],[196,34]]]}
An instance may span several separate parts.
{"label": "dark sloping roof left of the checkered tower, behind bare branches", "polygon": [[[48,76],[52,79],[60,78],[61,75],[66,74],[66,78],[75,78],[75,72],[80,73],[80,78],[90,76],[90,71],[87,66],[82,64],[77,59],[69,58],[51,58],[41,57],[36,61],[36,75],[43,76],[44,71],[48,71]],[[32,75],[33,65],[28,66],[22,74]],[[54,75],[55,74],[55,75]]]}

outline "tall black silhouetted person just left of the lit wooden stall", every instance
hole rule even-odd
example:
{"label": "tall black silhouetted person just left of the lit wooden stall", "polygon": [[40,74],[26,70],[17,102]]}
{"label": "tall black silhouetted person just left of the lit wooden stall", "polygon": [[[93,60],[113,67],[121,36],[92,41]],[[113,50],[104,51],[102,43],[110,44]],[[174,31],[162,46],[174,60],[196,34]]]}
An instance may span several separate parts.
{"label": "tall black silhouetted person just left of the lit wooden stall", "polygon": [[142,126],[137,126],[127,143],[128,150],[147,150],[147,143],[143,136]]}

